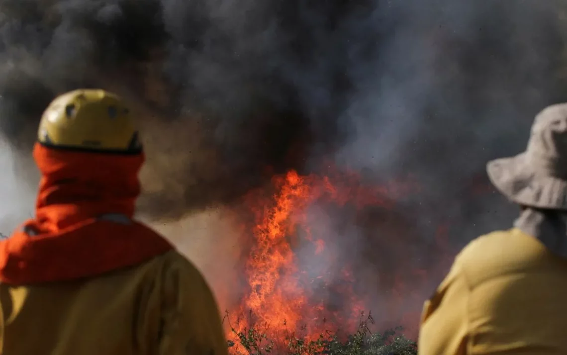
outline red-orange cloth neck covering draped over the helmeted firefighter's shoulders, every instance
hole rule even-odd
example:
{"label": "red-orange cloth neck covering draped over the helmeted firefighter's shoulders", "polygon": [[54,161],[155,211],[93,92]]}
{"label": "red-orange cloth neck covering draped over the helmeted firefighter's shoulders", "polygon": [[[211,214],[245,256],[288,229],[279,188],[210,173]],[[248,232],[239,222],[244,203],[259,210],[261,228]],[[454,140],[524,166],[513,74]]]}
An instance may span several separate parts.
{"label": "red-orange cloth neck covering draped over the helmeted firefighter's shoulders", "polygon": [[[0,241],[0,281],[9,284],[95,277],[172,249],[132,220],[143,154],[33,150],[41,181],[36,216]],[[101,219],[122,215],[124,220]]]}

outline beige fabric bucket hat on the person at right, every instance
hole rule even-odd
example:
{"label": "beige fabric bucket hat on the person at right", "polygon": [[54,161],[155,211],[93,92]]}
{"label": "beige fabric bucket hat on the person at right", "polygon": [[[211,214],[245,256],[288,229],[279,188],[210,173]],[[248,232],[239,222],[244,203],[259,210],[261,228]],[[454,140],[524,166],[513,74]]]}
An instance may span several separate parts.
{"label": "beige fabric bucket hat on the person at right", "polygon": [[524,153],[486,165],[494,186],[511,201],[567,210],[567,103],[551,105],[534,121]]}

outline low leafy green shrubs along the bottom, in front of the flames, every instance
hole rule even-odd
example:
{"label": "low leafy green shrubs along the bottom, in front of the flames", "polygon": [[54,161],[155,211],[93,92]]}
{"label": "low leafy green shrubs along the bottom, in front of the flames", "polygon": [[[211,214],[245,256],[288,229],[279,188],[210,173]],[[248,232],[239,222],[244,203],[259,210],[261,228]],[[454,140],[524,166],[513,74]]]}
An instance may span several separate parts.
{"label": "low leafy green shrubs along the bottom, in front of the flames", "polygon": [[[225,316],[228,319],[228,314]],[[323,333],[319,339],[307,341],[305,337],[288,333],[274,341],[265,329],[253,327],[238,332],[231,327],[235,341],[229,340],[231,355],[416,355],[416,343],[403,335],[397,335],[401,327],[384,333],[372,333],[371,315],[361,317],[358,330],[352,335],[340,337]]]}

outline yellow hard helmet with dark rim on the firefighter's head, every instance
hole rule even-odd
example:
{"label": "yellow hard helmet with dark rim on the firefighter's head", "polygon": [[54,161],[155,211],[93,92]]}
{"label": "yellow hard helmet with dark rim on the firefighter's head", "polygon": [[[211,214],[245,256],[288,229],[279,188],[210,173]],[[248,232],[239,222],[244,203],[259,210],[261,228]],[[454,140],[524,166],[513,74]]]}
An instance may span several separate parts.
{"label": "yellow hard helmet with dark rim on the firefighter's head", "polygon": [[49,147],[139,153],[129,109],[111,92],[81,89],[58,96],[45,110],[37,140]]}

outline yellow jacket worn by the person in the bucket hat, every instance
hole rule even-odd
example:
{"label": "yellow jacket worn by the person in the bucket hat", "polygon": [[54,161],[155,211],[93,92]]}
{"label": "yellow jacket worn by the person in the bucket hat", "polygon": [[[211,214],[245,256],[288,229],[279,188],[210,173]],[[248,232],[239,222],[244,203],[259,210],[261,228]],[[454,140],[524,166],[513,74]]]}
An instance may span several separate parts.
{"label": "yellow jacket worn by the person in the bucket hat", "polygon": [[567,260],[519,229],[473,240],[425,302],[418,351],[567,354]]}

